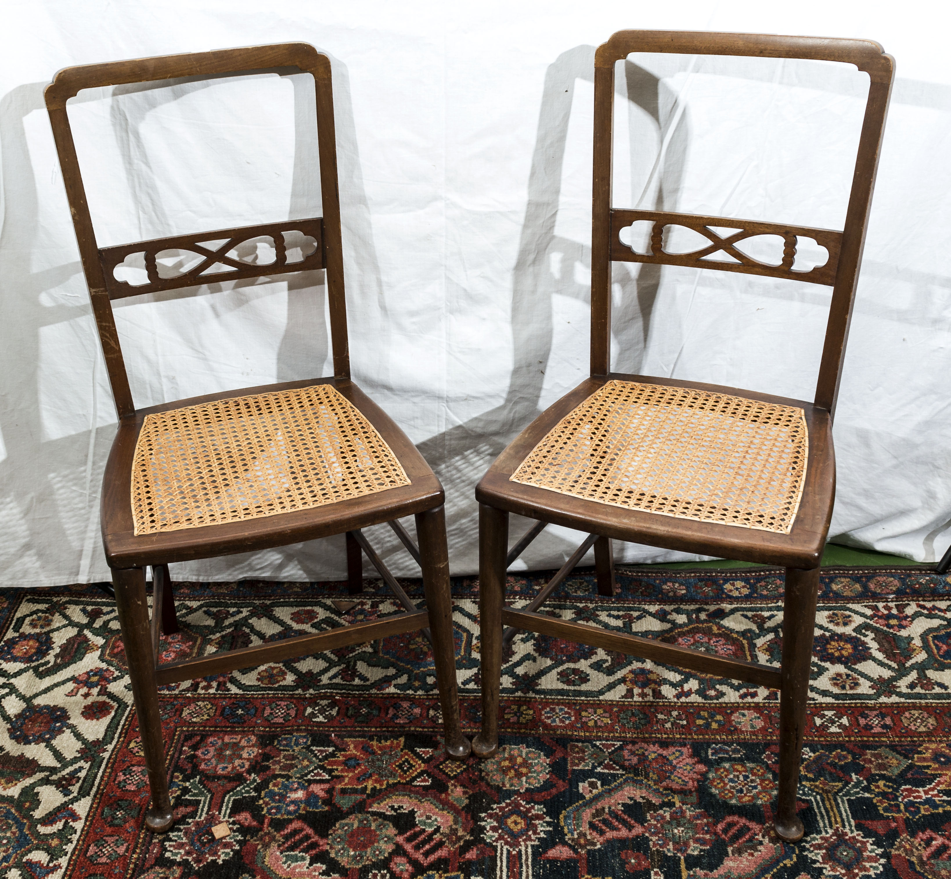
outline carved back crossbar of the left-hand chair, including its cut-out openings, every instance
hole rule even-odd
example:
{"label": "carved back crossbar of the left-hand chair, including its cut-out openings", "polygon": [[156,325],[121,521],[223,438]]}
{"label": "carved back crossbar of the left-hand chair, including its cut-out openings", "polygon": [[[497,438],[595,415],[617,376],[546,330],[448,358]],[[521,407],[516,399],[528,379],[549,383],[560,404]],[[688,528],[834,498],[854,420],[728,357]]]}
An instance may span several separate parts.
{"label": "carved back crossbar of the left-hand chair, including its cut-out openings", "polygon": [[[168,252],[172,252],[171,256],[179,253],[177,265],[167,266],[158,261],[166,258]],[[323,220],[286,220],[120,244],[101,248],[99,258],[110,299],[243,277],[322,269]],[[120,277],[116,277],[117,269]],[[169,277],[170,272],[175,274]],[[136,274],[142,277],[142,283],[135,282]]]}

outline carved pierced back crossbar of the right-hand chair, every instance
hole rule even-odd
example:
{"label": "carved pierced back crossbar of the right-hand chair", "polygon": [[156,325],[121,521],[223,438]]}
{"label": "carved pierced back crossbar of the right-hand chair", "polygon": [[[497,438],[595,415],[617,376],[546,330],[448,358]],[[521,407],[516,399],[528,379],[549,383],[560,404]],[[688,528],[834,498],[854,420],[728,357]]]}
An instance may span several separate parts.
{"label": "carved pierced back crossbar of the right-hand chair", "polygon": [[[621,230],[637,220],[650,220],[650,245],[647,253],[638,253],[621,239]],[[709,244],[685,254],[672,254],[664,250],[664,229],[668,226],[684,226],[699,233]],[[729,230],[729,231],[728,231]],[[783,239],[781,261],[762,262],[750,257],[736,245],[744,239],[775,235]],[[822,265],[809,269],[794,267],[797,238],[813,239],[828,252]],[[785,226],[781,223],[758,220],[726,220],[722,217],[700,217],[696,214],[670,214],[659,211],[611,211],[611,259],[627,262],[652,262],[664,265],[685,265],[698,269],[722,269],[726,272],[745,272],[748,275],[767,277],[791,277],[813,284],[835,284],[839,266],[839,250],[842,233],[831,229],[812,229],[807,226]],[[724,259],[723,256],[728,258]],[[734,261],[735,260],[735,261]]]}

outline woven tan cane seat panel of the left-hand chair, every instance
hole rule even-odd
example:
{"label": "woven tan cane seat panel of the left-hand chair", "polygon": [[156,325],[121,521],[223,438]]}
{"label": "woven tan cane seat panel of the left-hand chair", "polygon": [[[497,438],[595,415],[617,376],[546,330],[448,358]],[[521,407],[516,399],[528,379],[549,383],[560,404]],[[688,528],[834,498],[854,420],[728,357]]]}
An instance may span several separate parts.
{"label": "woven tan cane seat panel of the left-hand chair", "polygon": [[323,506],[410,480],[336,388],[311,385],[146,415],[132,461],[136,534]]}

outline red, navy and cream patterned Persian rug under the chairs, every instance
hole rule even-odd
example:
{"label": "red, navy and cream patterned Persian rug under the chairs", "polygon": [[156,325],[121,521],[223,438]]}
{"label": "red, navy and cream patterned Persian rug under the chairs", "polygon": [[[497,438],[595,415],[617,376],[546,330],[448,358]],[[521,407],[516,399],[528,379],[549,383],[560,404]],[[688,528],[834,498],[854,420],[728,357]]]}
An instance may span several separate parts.
{"label": "red, navy and cream patterned Persian rug under the chairs", "polygon": [[[780,656],[775,570],[575,575],[550,612],[744,659]],[[407,581],[420,594],[419,583]],[[540,577],[511,579],[516,600]],[[476,582],[454,582],[463,723],[477,729]],[[141,830],[146,774],[114,603],[0,597],[4,879],[951,876],[951,578],[830,568],[800,810],[771,831],[775,693],[521,634],[502,748],[444,758],[416,635],[165,687],[178,822]],[[165,658],[396,610],[378,582],[183,583]]]}

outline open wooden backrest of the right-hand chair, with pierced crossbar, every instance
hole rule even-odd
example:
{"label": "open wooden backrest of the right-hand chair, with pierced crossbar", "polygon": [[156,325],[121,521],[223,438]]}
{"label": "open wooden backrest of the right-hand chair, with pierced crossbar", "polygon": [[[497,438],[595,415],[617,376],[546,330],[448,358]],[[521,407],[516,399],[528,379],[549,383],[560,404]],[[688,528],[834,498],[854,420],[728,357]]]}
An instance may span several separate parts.
{"label": "open wooden backrest of the right-hand chair, with pierced crossbar", "polygon": [[[614,65],[632,52],[839,61],[855,65],[867,73],[871,82],[843,231],[693,214],[611,209]],[[594,56],[592,375],[605,375],[611,371],[611,260],[695,266],[767,277],[793,278],[832,287],[832,302],[825,330],[825,346],[819,367],[815,405],[830,413],[834,412],[855,285],[862,261],[868,208],[872,199],[894,76],[895,65],[891,56],[884,54],[882,47],[870,40],[686,30],[620,30],[613,34],[607,43],[599,46]],[[646,253],[634,252],[619,239],[620,231],[636,220],[653,222],[650,246]],[[662,235],[667,225],[686,226],[703,235],[710,244],[690,254],[665,253]],[[722,236],[709,228],[711,226],[741,231]],[[756,235],[778,235],[784,239],[785,247],[780,264],[769,265],[732,247],[742,239]],[[825,247],[828,259],[824,265],[809,271],[793,268],[797,236],[814,239]],[[725,251],[728,257],[736,261],[705,259],[716,251]]]}

